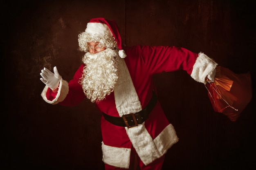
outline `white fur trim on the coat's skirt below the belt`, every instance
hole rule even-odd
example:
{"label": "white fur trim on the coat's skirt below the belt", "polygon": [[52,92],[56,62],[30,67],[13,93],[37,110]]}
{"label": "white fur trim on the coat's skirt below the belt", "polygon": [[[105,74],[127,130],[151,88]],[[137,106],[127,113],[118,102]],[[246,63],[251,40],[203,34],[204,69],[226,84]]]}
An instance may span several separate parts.
{"label": "white fur trim on the coat's skirt below the belt", "polygon": [[[136,131],[139,133],[136,133]],[[166,154],[167,150],[179,140],[172,124],[166,126],[166,128],[164,128],[164,130],[155,139],[152,139],[149,135],[144,124],[130,128],[128,130],[128,135],[132,141],[133,147],[139,155],[139,158],[145,165],[148,165],[155,159],[162,157]],[[102,153],[102,160],[104,163],[119,168],[129,168],[130,148],[106,146],[102,142]]]}

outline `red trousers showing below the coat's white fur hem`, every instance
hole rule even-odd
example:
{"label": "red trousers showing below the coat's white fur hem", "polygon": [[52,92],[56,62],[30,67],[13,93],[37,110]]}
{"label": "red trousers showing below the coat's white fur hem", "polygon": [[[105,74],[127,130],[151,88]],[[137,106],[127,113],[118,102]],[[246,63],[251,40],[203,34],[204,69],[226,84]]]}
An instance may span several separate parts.
{"label": "red trousers showing below the coat's white fur hem", "polygon": [[[131,155],[130,155],[130,166],[129,170],[161,170],[163,163],[164,163],[164,156],[155,159],[152,163],[148,164],[147,166],[144,165],[144,163],[140,160],[137,152],[132,147],[131,148]],[[105,170],[127,170],[124,168],[117,168],[114,166],[110,166],[108,164],[105,164]]]}

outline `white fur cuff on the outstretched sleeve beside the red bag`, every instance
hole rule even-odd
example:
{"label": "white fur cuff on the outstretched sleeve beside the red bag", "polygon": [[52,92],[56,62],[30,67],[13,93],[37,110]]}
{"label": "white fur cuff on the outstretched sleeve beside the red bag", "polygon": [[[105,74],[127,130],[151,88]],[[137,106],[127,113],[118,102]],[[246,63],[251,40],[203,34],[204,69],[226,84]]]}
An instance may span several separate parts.
{"label": "white fur cuff on the outstretched sleeve beside the red bag", "polygon": [[191,77],[197,82],[204,83],[207,75],[211,75],[217,65],[213,59],[204,53],[199,53],[198,58],[195,60]]}

